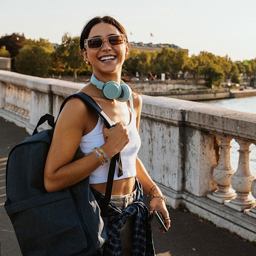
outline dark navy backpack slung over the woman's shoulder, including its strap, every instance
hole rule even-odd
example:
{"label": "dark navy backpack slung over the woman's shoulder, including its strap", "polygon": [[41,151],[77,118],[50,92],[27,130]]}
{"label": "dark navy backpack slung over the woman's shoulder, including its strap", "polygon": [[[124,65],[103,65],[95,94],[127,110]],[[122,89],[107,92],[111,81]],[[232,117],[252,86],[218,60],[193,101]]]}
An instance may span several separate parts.
{"label": "dark navy backpack slung over the woman's shoulder, including its strap", "polygon": [[[99,105],[85,93],[78,97],[93,108],[107,128],[113,122]],[[59,112],[59,113],[60,113]],[[48,121],[51,129],[38,133],[37,128]],[[107,241],[106,222],[111,198],[113,175],[119,154],[111,159],[102,216],[90,191],[89,177],[57,192],[44,188],[44,166],[52,141],[54,117],[46,114],[38,121],[32,137],[12,148],[6,166],[5,209],[17,236],[23,255],[86,256],[95,253]],[[73,160],[84,157],[80,148]]]}

